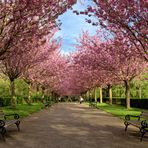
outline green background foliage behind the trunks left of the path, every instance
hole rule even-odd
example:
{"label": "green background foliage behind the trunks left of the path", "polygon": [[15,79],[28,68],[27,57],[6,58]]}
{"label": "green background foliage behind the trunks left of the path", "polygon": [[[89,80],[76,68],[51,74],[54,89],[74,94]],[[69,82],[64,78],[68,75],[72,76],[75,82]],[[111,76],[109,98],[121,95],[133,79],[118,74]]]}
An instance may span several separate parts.
{"label": "green background foliage behind the trunks left of the path", "polygon": [[[42,101],[42,92],[32,89],[32,102]],[[15,94],[17,104],[26,104],[28,99],[28,84],[23,79],[15,80]],[[0,106],[9,106],[11,104],[10,81],[7,78],[0,78]]]}

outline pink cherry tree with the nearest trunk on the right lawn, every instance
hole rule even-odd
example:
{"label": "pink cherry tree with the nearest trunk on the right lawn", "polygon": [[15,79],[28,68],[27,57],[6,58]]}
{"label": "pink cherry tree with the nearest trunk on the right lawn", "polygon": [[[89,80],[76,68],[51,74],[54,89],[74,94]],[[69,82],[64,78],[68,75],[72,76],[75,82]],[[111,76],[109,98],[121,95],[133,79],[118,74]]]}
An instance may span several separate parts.
{"label": "pink cherry tree with the nearest trunk on the right lawn", "polygon": [[[128,45],[127,42],[114,40],[110,45],[107,44],[106,48],[108,52],[106,57],[104,57],[107,59],[104,63],[106,65],[105,69],[111,71],[119,81],[124,82],[126,105],[129,109],[131,82],[135,77],[144,72],[147,62],[143,61],[139,56],[136,57],[133,53],[135,46]],[[115,50],[116,52],[114,52]],[[105,56],[105,53],[103,56]]]}

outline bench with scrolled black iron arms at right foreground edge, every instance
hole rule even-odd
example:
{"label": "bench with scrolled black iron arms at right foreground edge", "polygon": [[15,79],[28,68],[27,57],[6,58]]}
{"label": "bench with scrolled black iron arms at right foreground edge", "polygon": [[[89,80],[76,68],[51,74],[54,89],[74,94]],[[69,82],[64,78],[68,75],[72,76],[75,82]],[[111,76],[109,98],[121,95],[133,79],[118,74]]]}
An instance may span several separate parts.
{"label": "bench with scrolled black iron arms at right foreground edge", "polygon": [[139,116],[126,115],[124,124],[125,131],[127,131],[129,125],[139,128],[141,133],[140,140],[142,141],[144,135],[148,132],[148,112],[143,111]]}

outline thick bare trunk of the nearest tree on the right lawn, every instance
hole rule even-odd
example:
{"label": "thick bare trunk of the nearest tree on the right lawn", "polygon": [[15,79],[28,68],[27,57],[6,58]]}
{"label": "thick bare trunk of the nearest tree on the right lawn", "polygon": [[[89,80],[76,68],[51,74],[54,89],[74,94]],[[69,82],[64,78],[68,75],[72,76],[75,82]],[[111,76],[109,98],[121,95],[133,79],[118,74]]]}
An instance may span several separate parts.
{"label": "thick bare trunk of the nearest tree on the right lawn", "polygon": [[130,109],[130,81],[125,80],[125,96],[126,96],[126,108]]}

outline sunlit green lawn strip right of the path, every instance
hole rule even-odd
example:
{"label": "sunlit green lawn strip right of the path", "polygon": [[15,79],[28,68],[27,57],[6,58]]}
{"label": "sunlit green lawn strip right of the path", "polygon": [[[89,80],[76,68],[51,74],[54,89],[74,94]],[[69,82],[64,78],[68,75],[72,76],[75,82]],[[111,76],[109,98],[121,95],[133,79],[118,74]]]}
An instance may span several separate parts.
{"label": "sunlit green lawn strip right of the path", "polygon": [[142,110],[144,109],[139,109],[139,108],[131,108],[131,109],[126,109],[126,107],[121,106],[121,105],[109,105],[107,103],[98,103],[97,108],[104,110],[108,113],[111,113],[114,116],[118,116],[122,119],[124,119],[125,115],[139,115]]}

